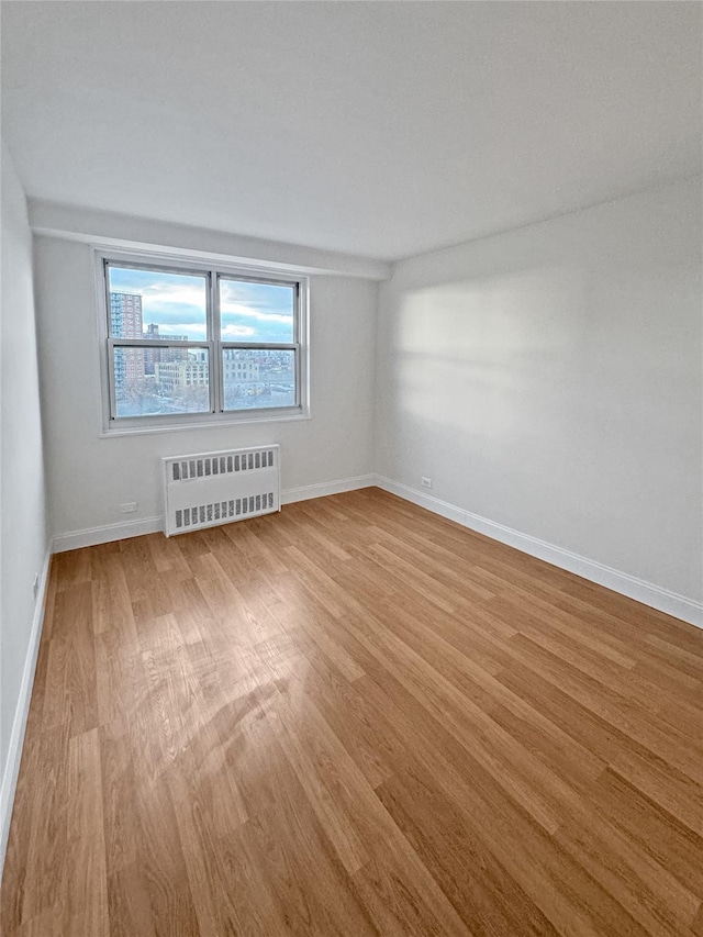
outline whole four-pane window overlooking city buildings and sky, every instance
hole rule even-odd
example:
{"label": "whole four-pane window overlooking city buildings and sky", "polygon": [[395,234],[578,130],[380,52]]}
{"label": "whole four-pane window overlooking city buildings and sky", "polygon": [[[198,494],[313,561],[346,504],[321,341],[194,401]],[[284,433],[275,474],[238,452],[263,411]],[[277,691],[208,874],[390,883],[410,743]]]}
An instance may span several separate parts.
{"label": "whole four-pane window overlooking city buildings and sky", "polygon": [[105,428],[308,412],[305,278],[99,255]]}

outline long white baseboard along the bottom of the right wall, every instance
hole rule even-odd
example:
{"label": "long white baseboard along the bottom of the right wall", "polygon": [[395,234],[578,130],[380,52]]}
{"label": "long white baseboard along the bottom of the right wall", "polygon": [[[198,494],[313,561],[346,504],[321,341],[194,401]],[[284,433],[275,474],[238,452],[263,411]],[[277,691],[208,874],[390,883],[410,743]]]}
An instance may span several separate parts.
{"label": "long white baseboard along the bottom of the right wall", "polygon": [[599,585],[612,589],[613,592],[620,592],[622,595],[627,595],[628,599],[634,599],[644,605],[649,605],[651,609],[657,609],[659,612],[665,612],[667,615],[673,615],[676,618],[681,618],[683,622],[703,628],[703,603],[701,602],[670,592],[668,589],[662,589],[660,585],[655,585],[652,582],[638,579],[627,572],[621,572],[618,569],[604,566],[596,560],[587,559],[579,554],[571,553],[571,550],[556,547],[546,540],[522,534],[520,531],[489,521],[479,514],[472,514],[470,511],[440,501],[438,498],[433,498],[390,478],[376,476],[376,484],[384,491],[390,491],[391,494],[397,494],[405,501],[412,501],[413,504],[426,507],[427,511],[456,521],[457,524],[469,527],[471,531],[484,534],[487,537],[522,550],[522,553],[550,562],[559,569],[566,569],[568,572],[573,572],[590,582],[596,582]]}

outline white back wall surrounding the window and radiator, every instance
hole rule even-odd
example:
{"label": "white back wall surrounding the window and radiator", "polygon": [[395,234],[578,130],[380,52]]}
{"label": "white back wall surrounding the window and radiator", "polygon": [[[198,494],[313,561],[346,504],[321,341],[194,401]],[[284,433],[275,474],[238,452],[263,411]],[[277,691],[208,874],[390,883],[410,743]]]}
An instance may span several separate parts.
{"label": "white back wall surrounding the window and radiator", "polygon": [[[280,443],[283,490],[372,472],[376,282],[311,278],[311,420],[100,438],[91,249],[37,237],[35,263],[55,537],[160,515],[163,456]],[[119,513],[127,501],[136,515]]]}

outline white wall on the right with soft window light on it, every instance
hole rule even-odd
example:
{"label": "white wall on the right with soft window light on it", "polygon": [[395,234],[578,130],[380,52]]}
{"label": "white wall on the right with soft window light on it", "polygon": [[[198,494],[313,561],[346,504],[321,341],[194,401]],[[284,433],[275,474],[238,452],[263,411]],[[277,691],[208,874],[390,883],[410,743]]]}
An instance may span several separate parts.
{"label": "white wall on the right with soft window light on it", "polygon": [[377,471],[700,601],[701,353],[700,179],[402,261]]}

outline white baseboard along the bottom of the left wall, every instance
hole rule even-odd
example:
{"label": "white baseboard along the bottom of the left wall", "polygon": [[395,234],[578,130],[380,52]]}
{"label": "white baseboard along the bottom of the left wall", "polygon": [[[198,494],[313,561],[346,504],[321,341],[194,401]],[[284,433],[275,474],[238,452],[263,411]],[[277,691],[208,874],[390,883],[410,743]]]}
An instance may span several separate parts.
{"label": "white baseboard along the bottom of the left wall", "polygon": [[4,773],[2,776],[2,787],[0,788],[0,881],[2,880],[4,855],[8,848],[8,836],[10,835],[14,792],[18,785],[20,762],[22,761],[24,730],[26,728],[26,720],[30,714],[30,703],[32,702],[32,688],[34,685],[36,658],[38,656],[42,626],[44,624],[44,609],[46,605],[46,588],[48,584],[51,561],[52,551],[51,549],[47,549],[44,558],[44,566],[42,567],[40,587],[36,593],[34,617],[32,618],[32,628],[30,631],[30,644],[26,650],[26,658],[24,660],[20,695],[14,711],[14,720],[12,721],[8,760],[5,761]]}

